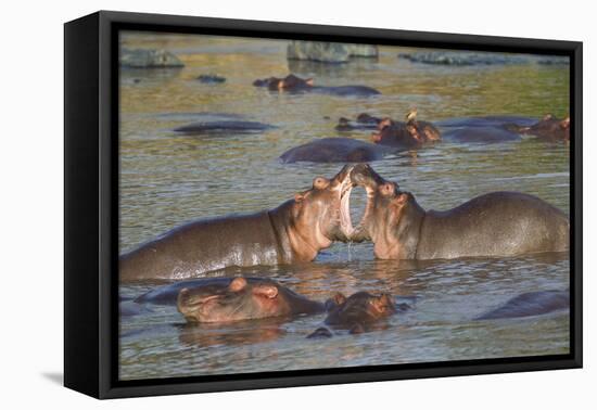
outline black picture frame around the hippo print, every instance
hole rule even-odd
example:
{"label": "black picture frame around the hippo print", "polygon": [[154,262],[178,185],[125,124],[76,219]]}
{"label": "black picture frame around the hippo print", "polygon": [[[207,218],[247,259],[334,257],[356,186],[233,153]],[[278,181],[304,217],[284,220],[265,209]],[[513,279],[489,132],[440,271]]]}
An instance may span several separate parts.
{"label": "black picture frame around the hippo print", "polygon": [[[569,355],[118,381],[120,29],[509,51],[570,57]],[[64,26],[64,384],[97,398],[581,368],[582,42],[101,11]]]}

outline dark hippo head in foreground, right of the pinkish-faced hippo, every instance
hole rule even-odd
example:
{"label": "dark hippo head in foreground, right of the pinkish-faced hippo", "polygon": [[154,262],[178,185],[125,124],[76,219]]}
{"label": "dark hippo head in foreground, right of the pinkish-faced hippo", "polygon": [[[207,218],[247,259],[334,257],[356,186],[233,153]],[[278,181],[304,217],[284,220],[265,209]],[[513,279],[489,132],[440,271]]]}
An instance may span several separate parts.
{"label": "dark hippo head in foreground, right of the pinkish-faced hippo", "polygon": [[[398,310],[410,308],[407,304],[396,306],[392,296],[386,293],[373,295],[369,292],[357,292],[351,297],[338,293],[326,305],[328,317],[325,323],[335,329],[346,329],[353,334],[370,331],[377,323]],[[330,337],[331,335],[327,328],[318,328],[307,337]]]}

